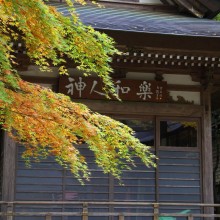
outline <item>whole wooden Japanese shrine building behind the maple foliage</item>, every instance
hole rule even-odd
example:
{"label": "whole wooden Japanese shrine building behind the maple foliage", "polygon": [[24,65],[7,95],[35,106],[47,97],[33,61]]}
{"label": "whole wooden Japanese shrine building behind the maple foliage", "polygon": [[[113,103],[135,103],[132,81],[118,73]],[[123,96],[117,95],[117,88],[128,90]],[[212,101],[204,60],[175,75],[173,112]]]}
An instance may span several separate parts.
{"label": "whole wooden Japanese shrine building behind the maple foliage", "polygon": [[[10,211],[23,212],[14,220],[175,220],[211,216],[211,103],[215,97],[213,102],[219,108],[220,86],[220,22],[212,18],[219,13],[220,2],[100,3],[105,7],[90,3],[75,7],[82,22],[111,36],[123,52],[112,57],[111,64],[121,102],[107,100],[100,79],[93,74],[84,77],[74,63],[68,63],[69,76],[59,76],[56,67],[52,67],[52,73],[40,72],[27,59],[25,45],[20,42],[14,44],[19,73],[27,81],[64,93],[133,128],[136,137],[151,146],[159,158],[157,167],[148,168],[137,159],[133,170],[123,172],[120,184],[96,166],[92,152],[82,144],[80,151],[87,158],[91,179],[81,185],[52,157],[26,167],[21,158],[24,148],[2,133],[2,201],[8,202]],[[69,16],[64,2],[47,4]],[[31,217],[27,212],[49,214]]]}

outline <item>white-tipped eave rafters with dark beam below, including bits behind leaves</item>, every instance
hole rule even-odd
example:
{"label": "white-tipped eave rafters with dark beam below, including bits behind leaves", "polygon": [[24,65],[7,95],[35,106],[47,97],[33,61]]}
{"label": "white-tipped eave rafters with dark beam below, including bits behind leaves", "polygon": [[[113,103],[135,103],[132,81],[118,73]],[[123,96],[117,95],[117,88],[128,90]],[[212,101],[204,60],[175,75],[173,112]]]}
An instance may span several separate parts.
{"label": "white-tipped eave rafters with dark beam below, including bits behind leaves", "polygon": [[[31,64],[22,43],[13,43],[18,59],[18,69],[25,70]],[[216,84],[220,84],[220,53],[202,53],[182,50],[135,48],[118,46],[121,55],[114,56],[112,67],[117,77],[125,77],[128,71],[147,72],[149,70],[166,73],[190,74],[194,81],[203,81],[204,73],[212,72]],[[75,67],[68,62],[68,67]]]}

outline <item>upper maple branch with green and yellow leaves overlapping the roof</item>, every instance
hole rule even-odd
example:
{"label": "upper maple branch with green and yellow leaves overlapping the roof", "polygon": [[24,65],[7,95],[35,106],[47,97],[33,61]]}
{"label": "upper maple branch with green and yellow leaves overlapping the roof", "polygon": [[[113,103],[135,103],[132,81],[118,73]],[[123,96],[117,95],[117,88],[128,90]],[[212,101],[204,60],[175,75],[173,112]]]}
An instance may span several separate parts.
{"label": "upper maple branch with green and yellow leaves overlapping the roof", "polygon": [[[84,3],[83,0],[79,1]],[[42,70],[59,66],[65,74],[66,60],[71,59],[87,74],[98,73],[106,93],[114,91],[109,77],[111,56],[118,51],[114,41],[104,33],[83,25],[71,1],[67,1],[70,17],[58,13],[41,0],[0,1],[0,64],[10,69],[11,42],[25,42],[27,55]]]}

